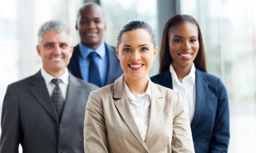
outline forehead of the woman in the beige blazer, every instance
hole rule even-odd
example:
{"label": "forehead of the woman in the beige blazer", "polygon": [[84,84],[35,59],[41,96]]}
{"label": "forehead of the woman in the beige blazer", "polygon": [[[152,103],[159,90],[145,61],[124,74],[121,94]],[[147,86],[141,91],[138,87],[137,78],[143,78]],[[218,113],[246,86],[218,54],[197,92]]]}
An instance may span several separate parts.
{"label": "forehead of the woman in the beige blazer", "polygon": [[144,29],[137,29],[129,32],[124,32],[121,36],[121,43],[124,45],[140,45],[148,44],[154,45],[151,35]]}

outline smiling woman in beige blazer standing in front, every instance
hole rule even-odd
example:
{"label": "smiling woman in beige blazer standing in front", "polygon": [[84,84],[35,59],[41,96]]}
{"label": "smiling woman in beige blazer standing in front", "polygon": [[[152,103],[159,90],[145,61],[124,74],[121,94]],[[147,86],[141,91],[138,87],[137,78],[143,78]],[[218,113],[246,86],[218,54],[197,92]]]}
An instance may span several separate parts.
{"label": "smiling woman in beige blazer standing in front", "polygon": [[146,22],[122,25],[116,54],[124,74],[92,91],[84,118],[85,152],[195,152],[181,95],[148,78],[157,54]]}

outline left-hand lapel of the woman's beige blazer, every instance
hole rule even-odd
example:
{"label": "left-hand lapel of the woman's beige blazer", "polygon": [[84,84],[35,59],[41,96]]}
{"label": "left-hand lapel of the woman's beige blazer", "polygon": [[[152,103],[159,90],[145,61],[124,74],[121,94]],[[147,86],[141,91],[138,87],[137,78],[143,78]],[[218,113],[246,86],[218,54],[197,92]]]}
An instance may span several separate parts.
{"label": "left-hand lapel of the woman's beige blazer", "polygon": [[114,98],[120,98],[115,101],[115,106],[123,118],[123,121],[129,127],[130,131],[136,137],[136,139],[140,142],[140,144],[148,151],[137,126],[137,123],[133,117],[133,114],[130,110],[129,101],[125,94],[124,83],[123,83],[123,75],[115,81],[114,84]]}

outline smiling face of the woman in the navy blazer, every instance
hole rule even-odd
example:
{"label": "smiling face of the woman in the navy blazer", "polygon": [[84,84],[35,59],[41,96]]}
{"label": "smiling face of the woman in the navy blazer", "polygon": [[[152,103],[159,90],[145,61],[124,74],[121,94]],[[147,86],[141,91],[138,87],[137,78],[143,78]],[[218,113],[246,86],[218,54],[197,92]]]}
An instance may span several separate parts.
{"label": "smiling face of the woman in the navy blazer", "polygon": [[178,24],[170,28],[168,38],[172,65],[192,66],[199,49],[197,25],[188,22]]}

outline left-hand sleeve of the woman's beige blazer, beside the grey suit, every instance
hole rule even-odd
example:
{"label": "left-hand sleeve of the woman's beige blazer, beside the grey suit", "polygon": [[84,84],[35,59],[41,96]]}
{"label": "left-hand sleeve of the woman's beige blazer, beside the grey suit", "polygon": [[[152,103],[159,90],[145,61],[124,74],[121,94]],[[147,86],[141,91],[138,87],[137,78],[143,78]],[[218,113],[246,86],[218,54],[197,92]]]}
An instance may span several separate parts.
{"label": "left-hand sleeve of the woman's beige blazer, beside the grey suit", "polygon": [[94,91],[89,95],[84,117],[84,152],[108,152],[102,101]]}

